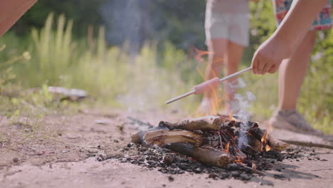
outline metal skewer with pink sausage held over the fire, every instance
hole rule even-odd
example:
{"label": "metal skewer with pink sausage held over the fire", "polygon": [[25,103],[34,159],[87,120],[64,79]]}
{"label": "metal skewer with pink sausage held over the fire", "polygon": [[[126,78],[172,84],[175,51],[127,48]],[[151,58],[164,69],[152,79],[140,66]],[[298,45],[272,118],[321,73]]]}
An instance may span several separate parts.
{"label": "metal skewer with pink sausage held over the fire", "polygon": [[248,67],[248,68],[243,69],[242,71],[238,71],[236,73],[233,73],[233,74],[228,75],[226,77],[223,77],[221,79],[213,78],[211,80],[207,80],[206,82],[203,82],[203,83],[201,83],[199,85],[194,86],[194,89],[191,90],[190,92],[184,93],[183,95],[179,95],[176,98],[172,98],[170,100],[167,100],[165,103],[169,104],[169,103],[172,103],[172,102],[174,102],[176,100],[179,100],[181,98],[185,98],[185,97],[187,97],[189,95],[192,95],[192,94],[196,94],[196,95],[201,94],[201,93],[203,93],[206,90],[211,90],[212,88],[217,87],[219,85],[219,83],[221,83],[221,82],[223,82],[225,80],[228,80],[230,78],[233,78],[233,77],[235,77],[237,75],[240,75],[240,74],[245,73],[245,72],[250,71],[250,70],[251,70],[251,68]]}

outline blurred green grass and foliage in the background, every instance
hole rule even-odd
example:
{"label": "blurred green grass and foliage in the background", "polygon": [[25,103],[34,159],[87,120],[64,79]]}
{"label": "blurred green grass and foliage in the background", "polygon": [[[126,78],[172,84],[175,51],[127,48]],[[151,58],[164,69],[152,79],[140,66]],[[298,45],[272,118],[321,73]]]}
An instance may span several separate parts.
{"label": "blurred green grass and foliage in the background", "polygon": [[[68,4],[70,2],[68,1]],[[18,37],[10,32],[0,38],[0,89],[16,90],[13,85],[19,85],[23,89],[58,85],[87,90],[94,103],[102,105],[141,110],[165,108],[165,100],[190,90],[192,85],[203,80],[198,71],[204,71],[205,63],[199,63],[194,59],[192,46],[188,43],[184,48],[182,39],[191,33],[199,38],[195,43],[201,43],[201,47],[196,47],[204,49],[204,1],[190,3],[185,0],[159,0],[154,3],[161,5],[160,9],[164,11],[160,14],[166,18],[166,22],[162,22],[164,26],[160,32],[162,39],[146,41],[137,56],[124,53],[123,49],[128,44],[122,47],[107,46],[104,27],[99,27],[97,36],[86,38],[75,27],[80,26],[80,30],[87,31],[89,21],[83,21],[87,24],[81,24],[70,14],[65,13],[64,16],[54,11],[56,8],[49,7],[55,13],[43,16],[43,19],[47,17],[46,23],[33,23],[32,26],[36,27],[27,32],[28,36]],[[243,68],[250,65],[255,48],[275,30],[271,1],[250,3],[250,13],[251,45],[245,51]],[[68,17],[67,21],[65,17]],[[198,19],[199,17],[201,19]],[[21,21],[26,22],[24,19],[27,18]],[[41,17],[38,16],[38,19]],[[194,26],[187,27],[191,23]],[[28,25],[31,26],[30,23]],[[331,134],[332,54],[333,31],[319,32],[298,105],[301,113],[305,114],[314,127]],[[206,60],[206,57],[203,56],[203,60]],[[242,78],[247,84],[243,90],[250,91],[257,97],[251,108],[255,115],[253,118],[267,120],[277,105],[277,74],[262,76],[247,73],[242,75]],[[43,91],[43,86],[41,88]],[[16,101],[16,110],[17,104],[23,104],[23,101],[17,102],[20,100],[8,101],[1,98],[3,104],[9,106]],[[31,98],[34,98],[29,102],[31,105],[50,103],[51,100],[45,92]],[[191,96],[172,103],[167,108],[184,109],[194,113],[199,101],[200,96]],[[15,114],[16,110],[11,110],[11,113]]]}

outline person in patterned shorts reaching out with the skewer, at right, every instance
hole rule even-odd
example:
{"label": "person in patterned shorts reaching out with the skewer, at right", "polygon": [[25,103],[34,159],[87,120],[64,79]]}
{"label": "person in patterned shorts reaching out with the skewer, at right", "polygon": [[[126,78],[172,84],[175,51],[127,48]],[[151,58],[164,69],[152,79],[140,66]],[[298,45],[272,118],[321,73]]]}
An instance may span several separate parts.
{"label": "person in patterned shorts reaching out with the skewer, at right", "polygon": [[316,31],[332,28],[332,0],[273,0],[273,3],[280,26],[258,48],[252,61],[255,74],[275,73],[279,69],[279,106],[269,122],[281,129],[322,134],[297,112],[296,105]]}

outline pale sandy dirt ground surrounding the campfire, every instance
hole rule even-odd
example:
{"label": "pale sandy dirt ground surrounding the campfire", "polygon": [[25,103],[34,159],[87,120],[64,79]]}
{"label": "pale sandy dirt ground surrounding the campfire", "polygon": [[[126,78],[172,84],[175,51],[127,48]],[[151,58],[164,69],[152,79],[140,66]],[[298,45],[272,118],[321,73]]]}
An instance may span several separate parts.
{"label": "pale sandy dirt ground surrounding the campfire", "polygon": [[[333,187],[333,150],[328,149],[314,148],[311,155],[305,153],[304,157],[275,163],[273,169],[265,171],[265,177],[252,177],[247,182],[188,172],[163,174],[115,159],[99,162],[94,157],[126,155],[122,148],[129,143],[130,135],[147,128],[147,122],[157,125],[160,120],[185,118],[176,112],[117,110],[44,117],[44,129],[39,134],[24,140],[16,139],[14,134],[0,143],[0,187]],[[0,130],[28,135],[31,125],[23,123],[24,118],[19,122],[2,118]],[[273,130],[271,135],[332,145],[322,137],[282,130]],[[279,174],[283,178],[277,178]]]}

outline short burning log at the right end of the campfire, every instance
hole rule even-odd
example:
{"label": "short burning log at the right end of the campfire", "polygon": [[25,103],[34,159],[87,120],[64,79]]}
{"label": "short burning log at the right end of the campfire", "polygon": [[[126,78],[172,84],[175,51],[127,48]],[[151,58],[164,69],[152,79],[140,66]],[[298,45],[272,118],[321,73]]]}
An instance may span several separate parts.
{"label": "short burning log at the right end of the campfire", "polygon": [[270,147],[272,147],[272,149],[275,151],[280,152],[290,146],[286,142],[282,142],[281,140],[277,140],[273,137],[270,137],[270,135],[268,135],[266,130],[261,130],[260,128],[253,128],[253,129],[248,130],[248,132],[250,135],[253,135],[260,142],[263,142],[263,141],[267,142],[267,144]]}

